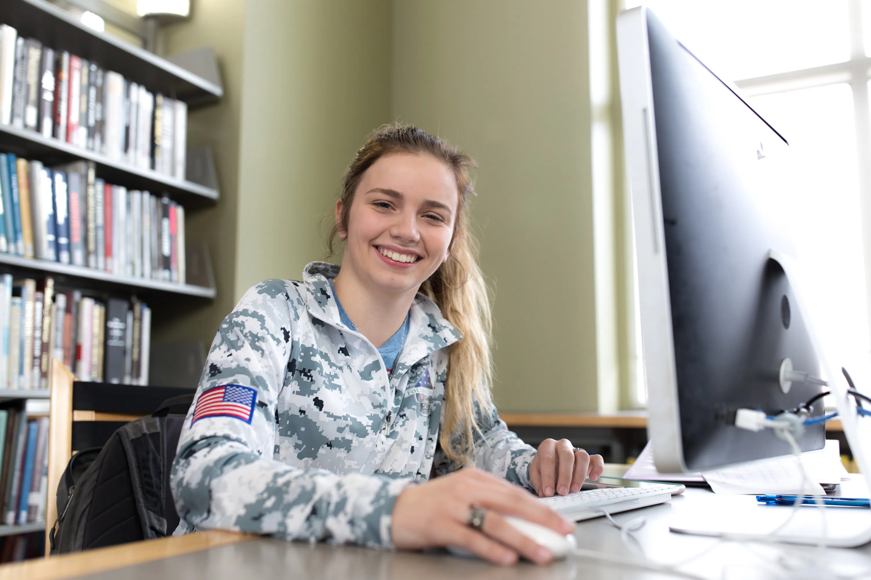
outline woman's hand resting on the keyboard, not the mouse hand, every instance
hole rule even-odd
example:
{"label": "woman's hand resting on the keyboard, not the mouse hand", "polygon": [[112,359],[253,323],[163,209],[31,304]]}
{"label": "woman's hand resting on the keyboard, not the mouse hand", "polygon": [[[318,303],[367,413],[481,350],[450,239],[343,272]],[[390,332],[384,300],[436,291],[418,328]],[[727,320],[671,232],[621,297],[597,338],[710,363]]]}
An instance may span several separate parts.
{"label": "woman's hand resting on the keyboard, not the mouse hand", "polygon": [[604,459],[576,449],[568,439],[545,439],[530,463],[530,483],[538,497],[550,497],[554,490],[564,496],[580,491],[584,479],[598,479],[604,471]]}

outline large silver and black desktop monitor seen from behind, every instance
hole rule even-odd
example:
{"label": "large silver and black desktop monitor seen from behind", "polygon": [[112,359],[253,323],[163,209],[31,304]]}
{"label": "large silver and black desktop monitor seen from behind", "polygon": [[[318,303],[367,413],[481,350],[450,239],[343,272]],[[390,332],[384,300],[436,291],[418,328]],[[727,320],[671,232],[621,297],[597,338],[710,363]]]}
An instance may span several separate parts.
{"label": "large silver and black desktop monitor seen from behind", "polygon": [[[800,235],[785,219],[787,140],[644,7],[618,17],[618,58],[657,468],[787,455],[773,430],[734,425],[739,409],[776,415],[822,390],[797,289],[772,253],[791,255]],[[807,380],[786,380],[790,369]],[[798,443],[821,449],[824,426]]]}

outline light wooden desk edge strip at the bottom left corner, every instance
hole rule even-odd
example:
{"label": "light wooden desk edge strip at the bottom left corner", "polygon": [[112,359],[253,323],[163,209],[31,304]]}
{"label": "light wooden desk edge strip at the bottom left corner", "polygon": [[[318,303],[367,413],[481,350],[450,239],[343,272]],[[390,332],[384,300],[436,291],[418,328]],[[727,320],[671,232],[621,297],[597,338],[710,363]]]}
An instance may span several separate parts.
{"label": "light wooden desk edge strip at the bottom left corner", "polygon": [[161,537],[145,542],[124,543],[96,550],[34,558],[23,562],[0,564],[0,580],[12,580],[13,578],[55,580],[56,578],[96,574],[106,570],[125,568],[133,564],[218,548],[232,543],[248,542],[257,537],[259,536],[240,534],[234,531],[206,530],[186,536]]}

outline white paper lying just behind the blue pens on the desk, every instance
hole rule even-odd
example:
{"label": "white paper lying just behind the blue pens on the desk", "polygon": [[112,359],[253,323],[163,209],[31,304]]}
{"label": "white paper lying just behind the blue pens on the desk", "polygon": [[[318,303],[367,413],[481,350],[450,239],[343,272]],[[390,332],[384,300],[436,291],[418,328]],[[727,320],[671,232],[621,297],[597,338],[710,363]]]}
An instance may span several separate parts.
{"label": "white paper lying just behind the blue pens on the desk", "polygon": [[824,449],[802,453],[800,461],[810,478],[803,489],[801,468],[791,456],[703,471],[702,476],[715,493],[814,495],[824,495],[820,483],[840,483],[841,477],[847,477],[837,440],[828,440]]}

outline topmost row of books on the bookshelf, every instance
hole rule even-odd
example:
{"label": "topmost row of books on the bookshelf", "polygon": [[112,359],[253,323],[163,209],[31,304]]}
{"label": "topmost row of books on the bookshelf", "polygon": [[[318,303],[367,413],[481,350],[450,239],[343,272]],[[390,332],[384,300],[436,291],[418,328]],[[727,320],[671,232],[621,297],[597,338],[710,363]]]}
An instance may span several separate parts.
{"label": "topmost row of books on the bookshelf", "polygon": [[185,178],[187,105],[0,25],[0,123]]}

